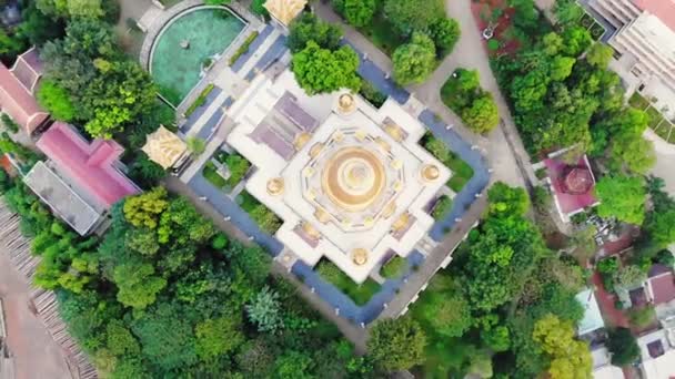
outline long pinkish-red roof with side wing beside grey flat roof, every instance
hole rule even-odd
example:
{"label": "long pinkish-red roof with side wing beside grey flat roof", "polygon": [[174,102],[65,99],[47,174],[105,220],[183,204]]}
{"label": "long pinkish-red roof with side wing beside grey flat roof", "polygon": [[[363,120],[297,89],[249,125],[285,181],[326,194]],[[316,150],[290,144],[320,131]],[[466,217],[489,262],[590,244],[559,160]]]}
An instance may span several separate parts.
{"label": "long pinkish-red roof with side wing beside grey flat roof", "polygon": [[124,151],[112,140],[92,143],[70,125],[54,123],[37,143],[60,171],[105,208],[124,196],[139,193],[139,188],[122,174],[117,165]]}

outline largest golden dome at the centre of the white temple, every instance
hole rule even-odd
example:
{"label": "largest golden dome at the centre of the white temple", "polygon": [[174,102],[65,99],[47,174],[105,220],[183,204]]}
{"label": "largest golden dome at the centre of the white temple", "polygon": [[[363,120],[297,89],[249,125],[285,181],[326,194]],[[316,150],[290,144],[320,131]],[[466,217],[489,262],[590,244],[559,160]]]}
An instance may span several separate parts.
{"label": "largest golden dome at the centre of the white temple", "polygon": [[335,152],[321,177],[323,192],[347,212],[367,208],[380,197],[385,184],[384,165],[375,154],[362,147]]}

